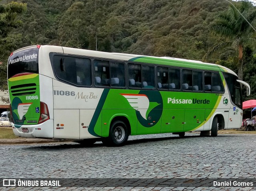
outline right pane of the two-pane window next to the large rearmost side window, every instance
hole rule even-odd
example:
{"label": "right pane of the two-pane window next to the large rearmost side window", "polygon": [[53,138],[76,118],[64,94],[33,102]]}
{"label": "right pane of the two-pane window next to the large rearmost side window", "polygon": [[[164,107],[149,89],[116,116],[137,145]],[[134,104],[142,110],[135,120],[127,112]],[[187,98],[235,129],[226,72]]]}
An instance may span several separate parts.
{"label": "right pane of the two-pane window next to the large rearmost side window", "polygon": [[110,62],[111,87],[125,87],[124,63]]}

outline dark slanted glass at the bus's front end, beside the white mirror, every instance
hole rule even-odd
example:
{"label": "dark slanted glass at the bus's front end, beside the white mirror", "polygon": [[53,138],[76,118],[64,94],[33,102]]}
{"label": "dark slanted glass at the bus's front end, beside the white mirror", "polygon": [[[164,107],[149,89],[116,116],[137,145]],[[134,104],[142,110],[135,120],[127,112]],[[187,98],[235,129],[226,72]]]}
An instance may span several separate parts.
{"label": "dark slanted glass at the bus's front end, beside the white mirror", "polygon": [[236,81],[238,77],[230,73],[223,73],[223,75],[226,80],[232,102],[239,108],[242,108],[241,86],[240,83]]}

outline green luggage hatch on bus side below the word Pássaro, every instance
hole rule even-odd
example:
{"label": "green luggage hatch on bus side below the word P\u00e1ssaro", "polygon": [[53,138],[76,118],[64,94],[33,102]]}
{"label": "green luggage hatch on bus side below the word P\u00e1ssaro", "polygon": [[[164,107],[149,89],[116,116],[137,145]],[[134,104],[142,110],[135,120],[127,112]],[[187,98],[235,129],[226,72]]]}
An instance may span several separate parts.
{"label": "green luggage hatch on bus side below the word P\u00e1ssaro", "polygon": [[183,132],[184,109],[164,109],[161,133]]}

